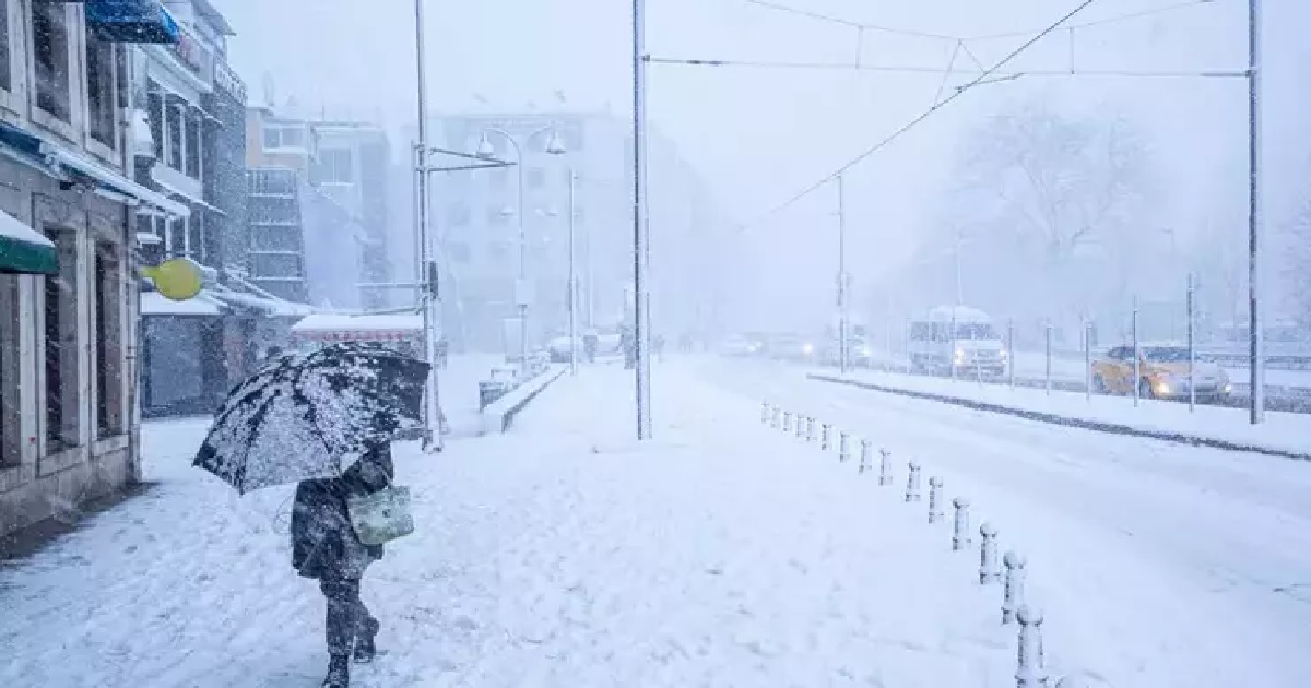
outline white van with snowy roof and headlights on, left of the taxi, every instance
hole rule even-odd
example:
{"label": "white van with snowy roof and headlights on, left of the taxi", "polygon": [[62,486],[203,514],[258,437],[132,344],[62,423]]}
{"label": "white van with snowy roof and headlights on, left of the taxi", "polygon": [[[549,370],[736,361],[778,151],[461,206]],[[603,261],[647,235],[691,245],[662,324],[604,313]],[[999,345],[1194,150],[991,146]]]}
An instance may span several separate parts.
{"label": "white van with snowy roof and headlights on, left of the taxi", "polygon": [[992,318],[977,308],[937,307],[910,325],[910,367],[915,373],[1002,376],[1009,353],[992,326]]}

